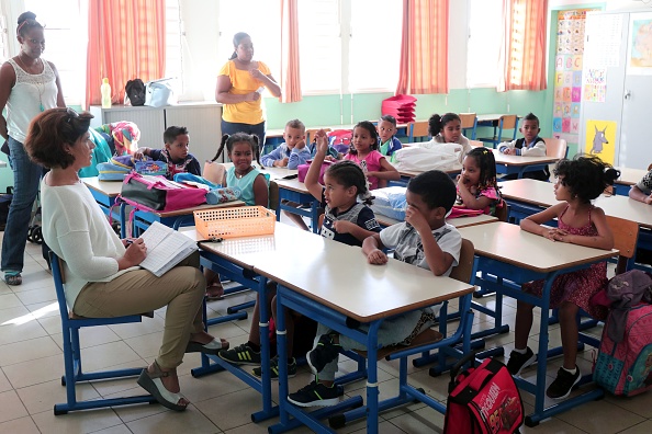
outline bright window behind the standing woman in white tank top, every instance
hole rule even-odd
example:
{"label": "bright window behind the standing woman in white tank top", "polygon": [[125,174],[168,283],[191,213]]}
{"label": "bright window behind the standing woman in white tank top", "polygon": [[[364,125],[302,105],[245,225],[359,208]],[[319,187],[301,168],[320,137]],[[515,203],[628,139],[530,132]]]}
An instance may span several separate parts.
{"label": "bright window behind the standing woman in white tank top", "polygon": [[[57,67],[66,104],[82,105],[88,39],[86,2],[25,0],[24,5],[24,10],[34,12],[45,27],[43,58]],[[18,16],[11,21],[15,23]]]}

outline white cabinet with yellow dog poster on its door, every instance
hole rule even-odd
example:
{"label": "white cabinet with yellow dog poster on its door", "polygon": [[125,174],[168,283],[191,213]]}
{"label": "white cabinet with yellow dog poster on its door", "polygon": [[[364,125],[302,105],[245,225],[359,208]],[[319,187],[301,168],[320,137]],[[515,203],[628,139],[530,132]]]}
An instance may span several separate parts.
{"label": "white cabinet with yellow dog poster on its door", "polygon": [[[647,169],[652,95],[652,12],[589,12],[583,59],[581,149]],[[615,136],[614,136],[615,135]],[[614,139],[609,139],[612,137]]]}

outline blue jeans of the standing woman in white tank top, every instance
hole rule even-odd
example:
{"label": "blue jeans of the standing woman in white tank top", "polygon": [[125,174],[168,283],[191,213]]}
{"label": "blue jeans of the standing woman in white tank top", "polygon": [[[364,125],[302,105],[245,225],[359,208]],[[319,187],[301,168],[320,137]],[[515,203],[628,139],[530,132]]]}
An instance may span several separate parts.
{"label": "blue jeans of the standing woman in white tank top", "polygon": [[4,238],[2,239],[2,271],[23,271],[27,231],[32,206],[38,193],[43,167],[30,160],[25,147],[9,137],[11,169],[13,170],[13,199],[9,207]]}

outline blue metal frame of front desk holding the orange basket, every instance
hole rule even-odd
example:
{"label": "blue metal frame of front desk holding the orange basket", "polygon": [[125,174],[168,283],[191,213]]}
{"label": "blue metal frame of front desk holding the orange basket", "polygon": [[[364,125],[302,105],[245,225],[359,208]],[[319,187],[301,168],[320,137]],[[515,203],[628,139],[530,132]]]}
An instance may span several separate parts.
{"label": "blue metal frame of front desk holding the orange basket", "polygon": [[[473,313],[470,311],[471,293],[460,297],[459,299],[460,310],[468,313],[461,317],[462,319],[460,321],[460,326],[452,336],[446,338],[432,344],[431,349],[443,349],[448,345],[462,341],[462,352],[468,353],[470,351],[469,336],[471,332],[471,324],[473,322]],[[345,315],[282,285],[279,285],[277,289],[277,346],[279,351],[279,359],[283,359],[283,357],[286,355],[285,317],[283,313],[283,306],[303,315],[310,316],[328,328],[336,330],[338,333],[347,335],[367,345],[367,407],[346,413],[345,419],[358,419],[360,416],[367,415],[367,432],[373,434],[378,433],[379,411],[402,406],[412,402],[415,399],[427,403],[429,407],[441,413],[446,412],[446,407],[443,404],[407,385],[407,358],[401,353],[396,353],[392,356],[392,358],[402,357],[401,364],[405,365],[404,369],[401,369],[400,393],[394,398],[379,402],[376,361],[379,345],[376,342],[378,330],[384,318],[370,322],[369,332],[364,333],[358,329],[348,327],[350,320]],[[443,328],[443,331],[446,332],[446,321],[440,321],[440,329],[441,328]],[[443,357],[445,352],[440,352],[440,362],[442,363]],[[358,396],[345,400],[337,406],[327,407],[316,410],[312,413],[306,413],[299,407],[292,406],[288,401],[288,366],[286,364],[281,363],[279,364],[279,407],[281,421],[279,424],[270,426],[269,432],[282,433],[304,424],[315,432],[330,433],[333,431],[321,424],[318,419],[338,413],[348,407],[358,407],[361,404],[361,402],[362,398]],[[290,415],[294,416],[294,419],[290,420]]]}

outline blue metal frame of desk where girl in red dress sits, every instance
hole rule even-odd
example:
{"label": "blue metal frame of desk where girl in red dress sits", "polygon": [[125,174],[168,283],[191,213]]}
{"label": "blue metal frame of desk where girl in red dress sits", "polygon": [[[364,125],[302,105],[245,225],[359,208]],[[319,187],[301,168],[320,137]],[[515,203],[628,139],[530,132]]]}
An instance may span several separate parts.
{"label": "blue metal frame of desk where girl in red dress sits", "polygon": [[[526,425],[527,426],[536,426],[544,419],[548,419],[554,414],[559,414],[563,411],[570,410],[574,407],[577,407],[584,402],[593,401],[599,399],[604,396],[604,390],[597,388],[595,390],[589,390],[583,395],[569,398],[564,401],[561,401],[557,404],[550,406],[544,408],[544,399],[546,399],[546,367],[547,367],[547,358],[551,355],[559,354],[558,349],[548,350],[548,327],[550,320],[550,289],[552,287],[552,283],[554,278],[564,273],[570,273],[576,270],[586,269],[591,266],[591,263],[571,266],[564,270],[554,271],[550,273],[540,273],[531,270],[525,270],[517,265],[507,264],[497,260],[493,260],[486,256],[477,255],[479,259],[479,271],[488,272],[495,276],[504,277],[505,279],[509,279],[518,285],[521,285],[526,282],[537,281],[537,279],[544,279],[546,285],[543,286],[542,297],[536,297],[530,294],[526,294],[520,289],[515,288],[514,286],[507,286],[493,281],[485,281],[482,277],[476,278],[476,284],[482,284],[483,287],[491,288],[495,290],[496,294],[502,294],[504,296],[508,296],[518,300],[524,300],[535,306],[541,308],[541,323],[539,328],[539,349],[537,353],[537,382],[531,384],[522,378],[515,377],[515,380],[519,388],[526,390],[529,393],[535,396],[535,411],[526,418]],[[595,262],[602,262],[604,259]],[[592,262],[594,263],[594,262]],[[582,377],[578,385],[584,385],[591,382],[593,380],[593,374],[588,374]]]}

